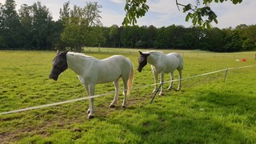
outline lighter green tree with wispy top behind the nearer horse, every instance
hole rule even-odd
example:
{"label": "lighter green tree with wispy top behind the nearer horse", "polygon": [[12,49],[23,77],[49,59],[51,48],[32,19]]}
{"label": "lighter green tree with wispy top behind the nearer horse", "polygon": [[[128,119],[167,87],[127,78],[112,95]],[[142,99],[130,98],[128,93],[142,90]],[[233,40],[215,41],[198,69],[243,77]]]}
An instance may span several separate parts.
{"label": "lighter green tree with wispy top behind the nearer horse", "polygon": [[102,40],[101,29],[97,28],[102,26],[99,15],[101,11],[98,10],[101,7],[98,2],[86,2],[83,8],[74,6],[73,10],[69,8],[69,2],[63,5],[60,10],[64,25],[61,39],[66,46],[81,51],[82,46],[95,46]]}

